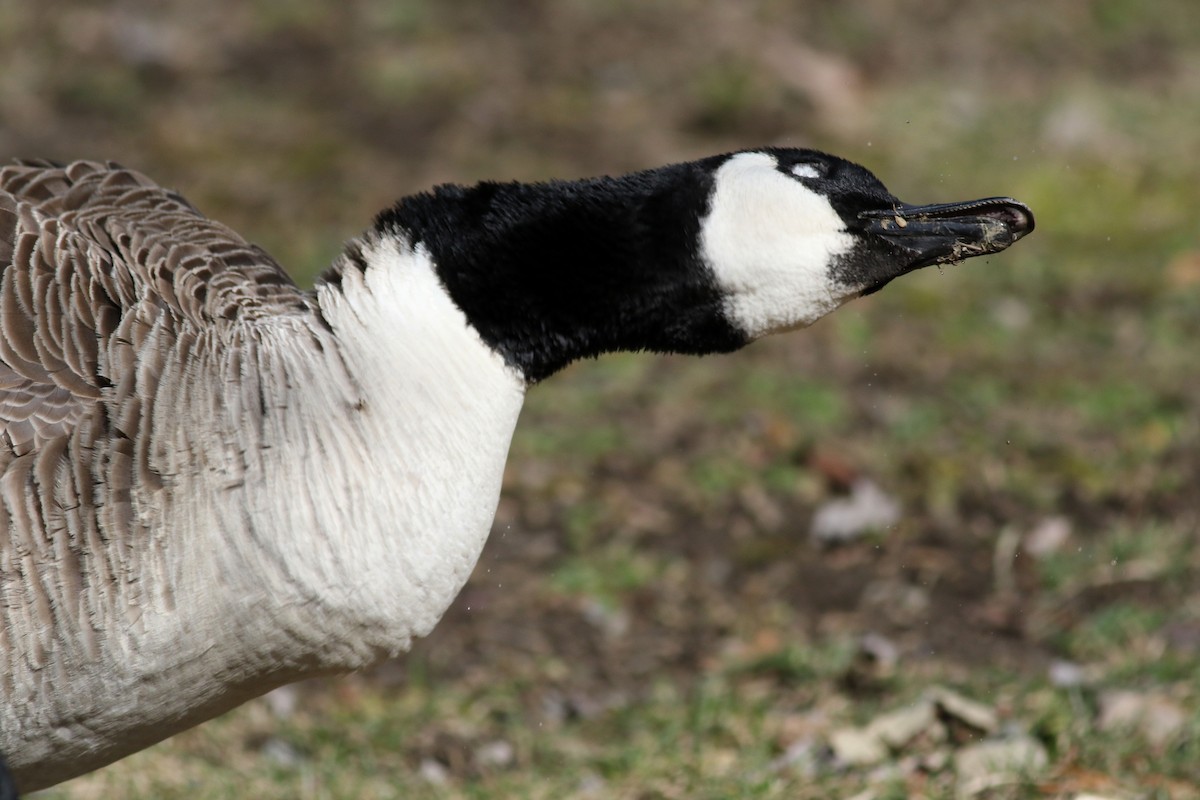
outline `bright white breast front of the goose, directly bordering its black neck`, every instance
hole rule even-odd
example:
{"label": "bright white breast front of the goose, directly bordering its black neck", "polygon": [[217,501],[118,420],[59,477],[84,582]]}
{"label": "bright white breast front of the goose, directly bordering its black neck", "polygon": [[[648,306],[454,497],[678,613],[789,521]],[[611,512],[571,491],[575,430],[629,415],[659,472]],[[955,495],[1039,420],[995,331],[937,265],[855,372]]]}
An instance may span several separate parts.
{"label": "bright white breast front of the goose, directly bordering its black neck", "polygon": [[424,636],[484,547],[526,385],[467,324],[422,248],[384,239],[365,255],[371,266],[347,270],[341,296],[319,294],[376,457],[344,462],[341,480],[373,497],[349,510],[329,555],[353,570],[392,634]]}

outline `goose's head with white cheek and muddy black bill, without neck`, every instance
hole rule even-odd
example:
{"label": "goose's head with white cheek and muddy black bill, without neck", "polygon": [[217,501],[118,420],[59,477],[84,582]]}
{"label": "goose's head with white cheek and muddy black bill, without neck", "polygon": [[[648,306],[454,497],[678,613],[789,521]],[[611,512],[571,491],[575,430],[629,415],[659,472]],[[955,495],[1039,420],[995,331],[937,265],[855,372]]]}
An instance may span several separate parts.
{"label": "goose's head with white cheek and muddy black bill, without neck", "polygon": [[745,151],[713,169],[700,253],[748,338],[810,325],[907,272],[998,253],[1033,230],[1009,198],[912,205],[815,150]]}

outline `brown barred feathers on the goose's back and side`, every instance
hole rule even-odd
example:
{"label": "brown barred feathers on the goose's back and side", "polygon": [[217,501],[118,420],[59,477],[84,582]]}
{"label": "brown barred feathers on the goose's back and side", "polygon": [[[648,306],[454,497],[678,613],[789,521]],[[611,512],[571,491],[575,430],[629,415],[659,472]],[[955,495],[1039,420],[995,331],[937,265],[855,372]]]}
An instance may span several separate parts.
{"label": "brown barred feathers on the goose's back and side", "polygon": [[325,332],[262,249],[110,163],[0,169],[0,740],[30,787],[26,760],[71,751],[44,732],[107,702],[96,666],[136,664],[142,614],[174,610],[172,521],[221,518],[176,477],[238,483],[271,392],[313,379],[264,350]]}

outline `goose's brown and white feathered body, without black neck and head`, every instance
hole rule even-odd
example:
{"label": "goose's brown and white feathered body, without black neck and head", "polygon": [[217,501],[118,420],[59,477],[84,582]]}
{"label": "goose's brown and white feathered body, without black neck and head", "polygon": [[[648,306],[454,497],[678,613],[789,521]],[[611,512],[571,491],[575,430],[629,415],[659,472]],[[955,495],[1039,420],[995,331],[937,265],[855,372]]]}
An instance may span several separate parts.
{"label": "goose's brown and white feathered body, without black neck and head", "polygon": [[52,786],[407,650],[523,377],[403,235],[300,291],[114,164],[0,169],[0,753]]}

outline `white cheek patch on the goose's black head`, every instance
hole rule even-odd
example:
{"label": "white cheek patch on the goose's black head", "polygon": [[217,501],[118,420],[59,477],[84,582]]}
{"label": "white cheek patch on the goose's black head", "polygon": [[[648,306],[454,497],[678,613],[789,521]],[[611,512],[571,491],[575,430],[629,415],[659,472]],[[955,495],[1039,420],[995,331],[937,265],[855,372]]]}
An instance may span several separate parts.
{"label": "white cheek patch on the goose's black head", "polygon": [[716,170],[701,252],[750,337],[810,325],[854,296],[830,270],[852,246],[829,200],[772,156],[738,154]]}

